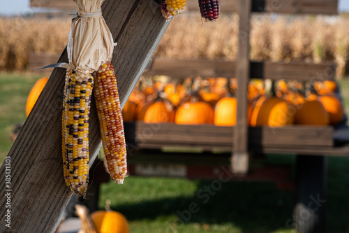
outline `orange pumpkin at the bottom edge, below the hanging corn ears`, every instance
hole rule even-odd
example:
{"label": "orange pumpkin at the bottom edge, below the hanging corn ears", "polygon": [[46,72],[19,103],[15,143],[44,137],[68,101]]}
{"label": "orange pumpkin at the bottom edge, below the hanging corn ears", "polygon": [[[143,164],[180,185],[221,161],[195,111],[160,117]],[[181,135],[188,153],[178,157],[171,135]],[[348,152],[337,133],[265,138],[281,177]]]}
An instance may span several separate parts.
{"label": "orange pumpkin at the bottom edge, below the hanging corn ears", "polygon": [[91,213],[98,233],[129,233],[125,216],[116,211],[94,211]]}

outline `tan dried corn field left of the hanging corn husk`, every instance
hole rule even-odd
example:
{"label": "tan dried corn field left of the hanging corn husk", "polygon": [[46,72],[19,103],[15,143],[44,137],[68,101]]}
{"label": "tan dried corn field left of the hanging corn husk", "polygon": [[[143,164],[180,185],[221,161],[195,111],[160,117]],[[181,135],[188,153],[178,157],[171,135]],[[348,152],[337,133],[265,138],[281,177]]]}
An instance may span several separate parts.
{"label": "tan dried corn field left of the hanging corn husk", "polygon": [[70,24],[68,18],[0,18],[0,71],[24,71],[31,53],[60,53]]}

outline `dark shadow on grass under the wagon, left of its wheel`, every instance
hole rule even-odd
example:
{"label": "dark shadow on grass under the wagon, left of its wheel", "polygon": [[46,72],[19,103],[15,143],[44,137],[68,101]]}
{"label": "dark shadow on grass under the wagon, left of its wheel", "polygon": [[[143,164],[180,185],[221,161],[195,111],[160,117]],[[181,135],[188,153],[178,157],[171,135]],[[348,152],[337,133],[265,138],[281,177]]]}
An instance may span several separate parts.
{"label": "dark shadow on grass under the wagon, left of its wheel", "polygon": [[209,187],[211,181],[200,181],[193,197],[112,207],[130,221],[175,215],[179,223],[233,223],[243,232],[272,232],[285,228],[286,220],[292,218],[294,193],[278,190],[273,183],[229,182],[217,191]]}

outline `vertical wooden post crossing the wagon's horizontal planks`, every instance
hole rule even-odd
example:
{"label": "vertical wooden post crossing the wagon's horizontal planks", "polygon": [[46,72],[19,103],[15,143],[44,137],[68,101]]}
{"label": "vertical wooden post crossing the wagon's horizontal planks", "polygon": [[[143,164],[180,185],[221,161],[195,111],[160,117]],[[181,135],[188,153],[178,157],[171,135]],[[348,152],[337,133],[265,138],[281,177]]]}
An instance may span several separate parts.
{"label": "vertical wooden post crossing the wagon's horizontal planks", "polygon": [[232,172],[246,174],[248,171],[248,125],[247,87],[250,78],[249,35],[251,0],[239,1],[239,51],[237,54],[237,125],[235,126],[234,151],[231,163]]}

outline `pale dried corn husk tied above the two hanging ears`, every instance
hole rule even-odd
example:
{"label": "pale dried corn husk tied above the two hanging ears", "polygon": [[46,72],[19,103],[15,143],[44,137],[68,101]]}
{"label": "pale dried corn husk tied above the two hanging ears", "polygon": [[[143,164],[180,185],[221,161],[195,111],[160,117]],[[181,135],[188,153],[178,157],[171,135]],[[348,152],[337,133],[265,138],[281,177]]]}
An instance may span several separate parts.
{"label": "pale dried corn husk tied above the two hanging ears", "polygon": [[112,59],[114,41],[102,16],[104,0],[74,0],[77,16],[73,18],[68,35],[70,69],[92,73]]}

